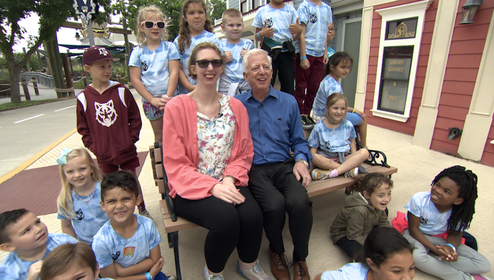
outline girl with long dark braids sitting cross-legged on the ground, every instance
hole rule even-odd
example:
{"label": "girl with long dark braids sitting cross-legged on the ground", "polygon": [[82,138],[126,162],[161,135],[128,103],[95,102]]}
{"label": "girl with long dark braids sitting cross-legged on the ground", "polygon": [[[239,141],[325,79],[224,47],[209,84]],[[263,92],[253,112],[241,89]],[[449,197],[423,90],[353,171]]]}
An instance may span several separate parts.
{"label": "girl with long dark braids sitting cross-legged on the ground", "polygon": [[441,171],[431,186],[405,206],[409,228],[403,236],[415,247],[415,266],[442,279],[487,279],[480,275],[490,270],[487,258],[461,243],[475,213],[477,175],[457,165]]}

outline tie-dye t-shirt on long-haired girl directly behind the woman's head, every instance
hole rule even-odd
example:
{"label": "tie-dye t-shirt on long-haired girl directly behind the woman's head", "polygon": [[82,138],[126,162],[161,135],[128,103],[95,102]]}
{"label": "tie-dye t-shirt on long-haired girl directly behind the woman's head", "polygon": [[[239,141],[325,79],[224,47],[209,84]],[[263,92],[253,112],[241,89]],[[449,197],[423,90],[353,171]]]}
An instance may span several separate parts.
{"label": "tie-dye t-shirt on long-haired girl directly behind the woman's head", "polygon": [[[173,41],[173,44],[175,44],[175,46],[177,47],[177,49],[179,51],[180,63],[182,63],[182,69],[185,73],[185,76],[187,76],[187,79],[189,80],[190,84],[195,85],[195,84],[197,84],[196,79],[192,79],[192,77],[189,76],[189,58],[190,58],[190,55],[192,54],[192,50],[194,49],[194,47],[197,44],[202,43],[202,42],[211,42],[211,43],[215,44],[221,50],[220,40],[218,39],[218,36],[216,36],[216,34],[204,30],[198,36],[193,36],[193,37],[191,36],[190,37],[190,46],[185,49],[184,53],[181,53],[180,47],[179,47],[179,37],[180,36],[177,36],[177,38],[175,38],[175,40]],[[189,93],[189,91],[187,91],[180,82],[179,82],[179,90],[180,90],[180,94]]]}

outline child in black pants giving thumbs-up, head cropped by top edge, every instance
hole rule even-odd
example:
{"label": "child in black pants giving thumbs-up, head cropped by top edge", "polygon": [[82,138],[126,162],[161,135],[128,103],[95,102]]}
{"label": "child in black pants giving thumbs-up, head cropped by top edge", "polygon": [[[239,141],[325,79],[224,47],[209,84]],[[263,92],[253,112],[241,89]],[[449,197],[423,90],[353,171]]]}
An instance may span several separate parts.
{"label": "child in black pants giving thumbs-up, head cropped by top edge", "polygon": [[254,37],[273,59],[271,85],[274,86],[278,76],[280,91],[293,95],[295,79],[293,42],[297,41],[302,33],[295,8],[285,4],[284,0],[272,0],[257,9],[252,26],[256,28]]}

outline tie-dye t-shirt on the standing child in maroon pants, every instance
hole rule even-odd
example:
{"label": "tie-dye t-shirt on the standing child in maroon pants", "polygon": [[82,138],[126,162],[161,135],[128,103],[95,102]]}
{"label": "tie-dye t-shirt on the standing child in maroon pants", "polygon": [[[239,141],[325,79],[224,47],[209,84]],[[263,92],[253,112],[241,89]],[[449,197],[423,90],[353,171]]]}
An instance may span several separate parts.
{"label": "tie-dye t-shirt on the standing child in maroon pants", "polygon": [[[313,57],[322,57],[326,54],[326,34],[328,24],[333,22],[331,8],[324,2],[315,5],[307,0],[298,6],[299,22],[305,23],[305,54]],[[324,38],[323,40],[321,40]],[[295,43],[299,53],[298,41]]]}

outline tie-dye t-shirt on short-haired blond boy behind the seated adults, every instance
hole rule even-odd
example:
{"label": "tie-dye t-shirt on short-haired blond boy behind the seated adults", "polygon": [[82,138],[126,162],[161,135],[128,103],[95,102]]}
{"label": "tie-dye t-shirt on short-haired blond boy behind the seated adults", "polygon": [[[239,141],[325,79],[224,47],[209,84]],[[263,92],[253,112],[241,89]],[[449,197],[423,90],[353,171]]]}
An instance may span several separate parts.
{"label": "tie-dye t-shirt on short-haired blond boy behind the seated adults", "polygon": [[225,70],[221,76],[226,76],[232,83],[243,82],[242,58],[240,52],[242,49],[251,50],[254,44],[251,40],[240,39],[240,43],[228,43],[225,39],[220,41],[221,50],[223,53],[230,50],[232,52],[232,61],[225,63]]}

